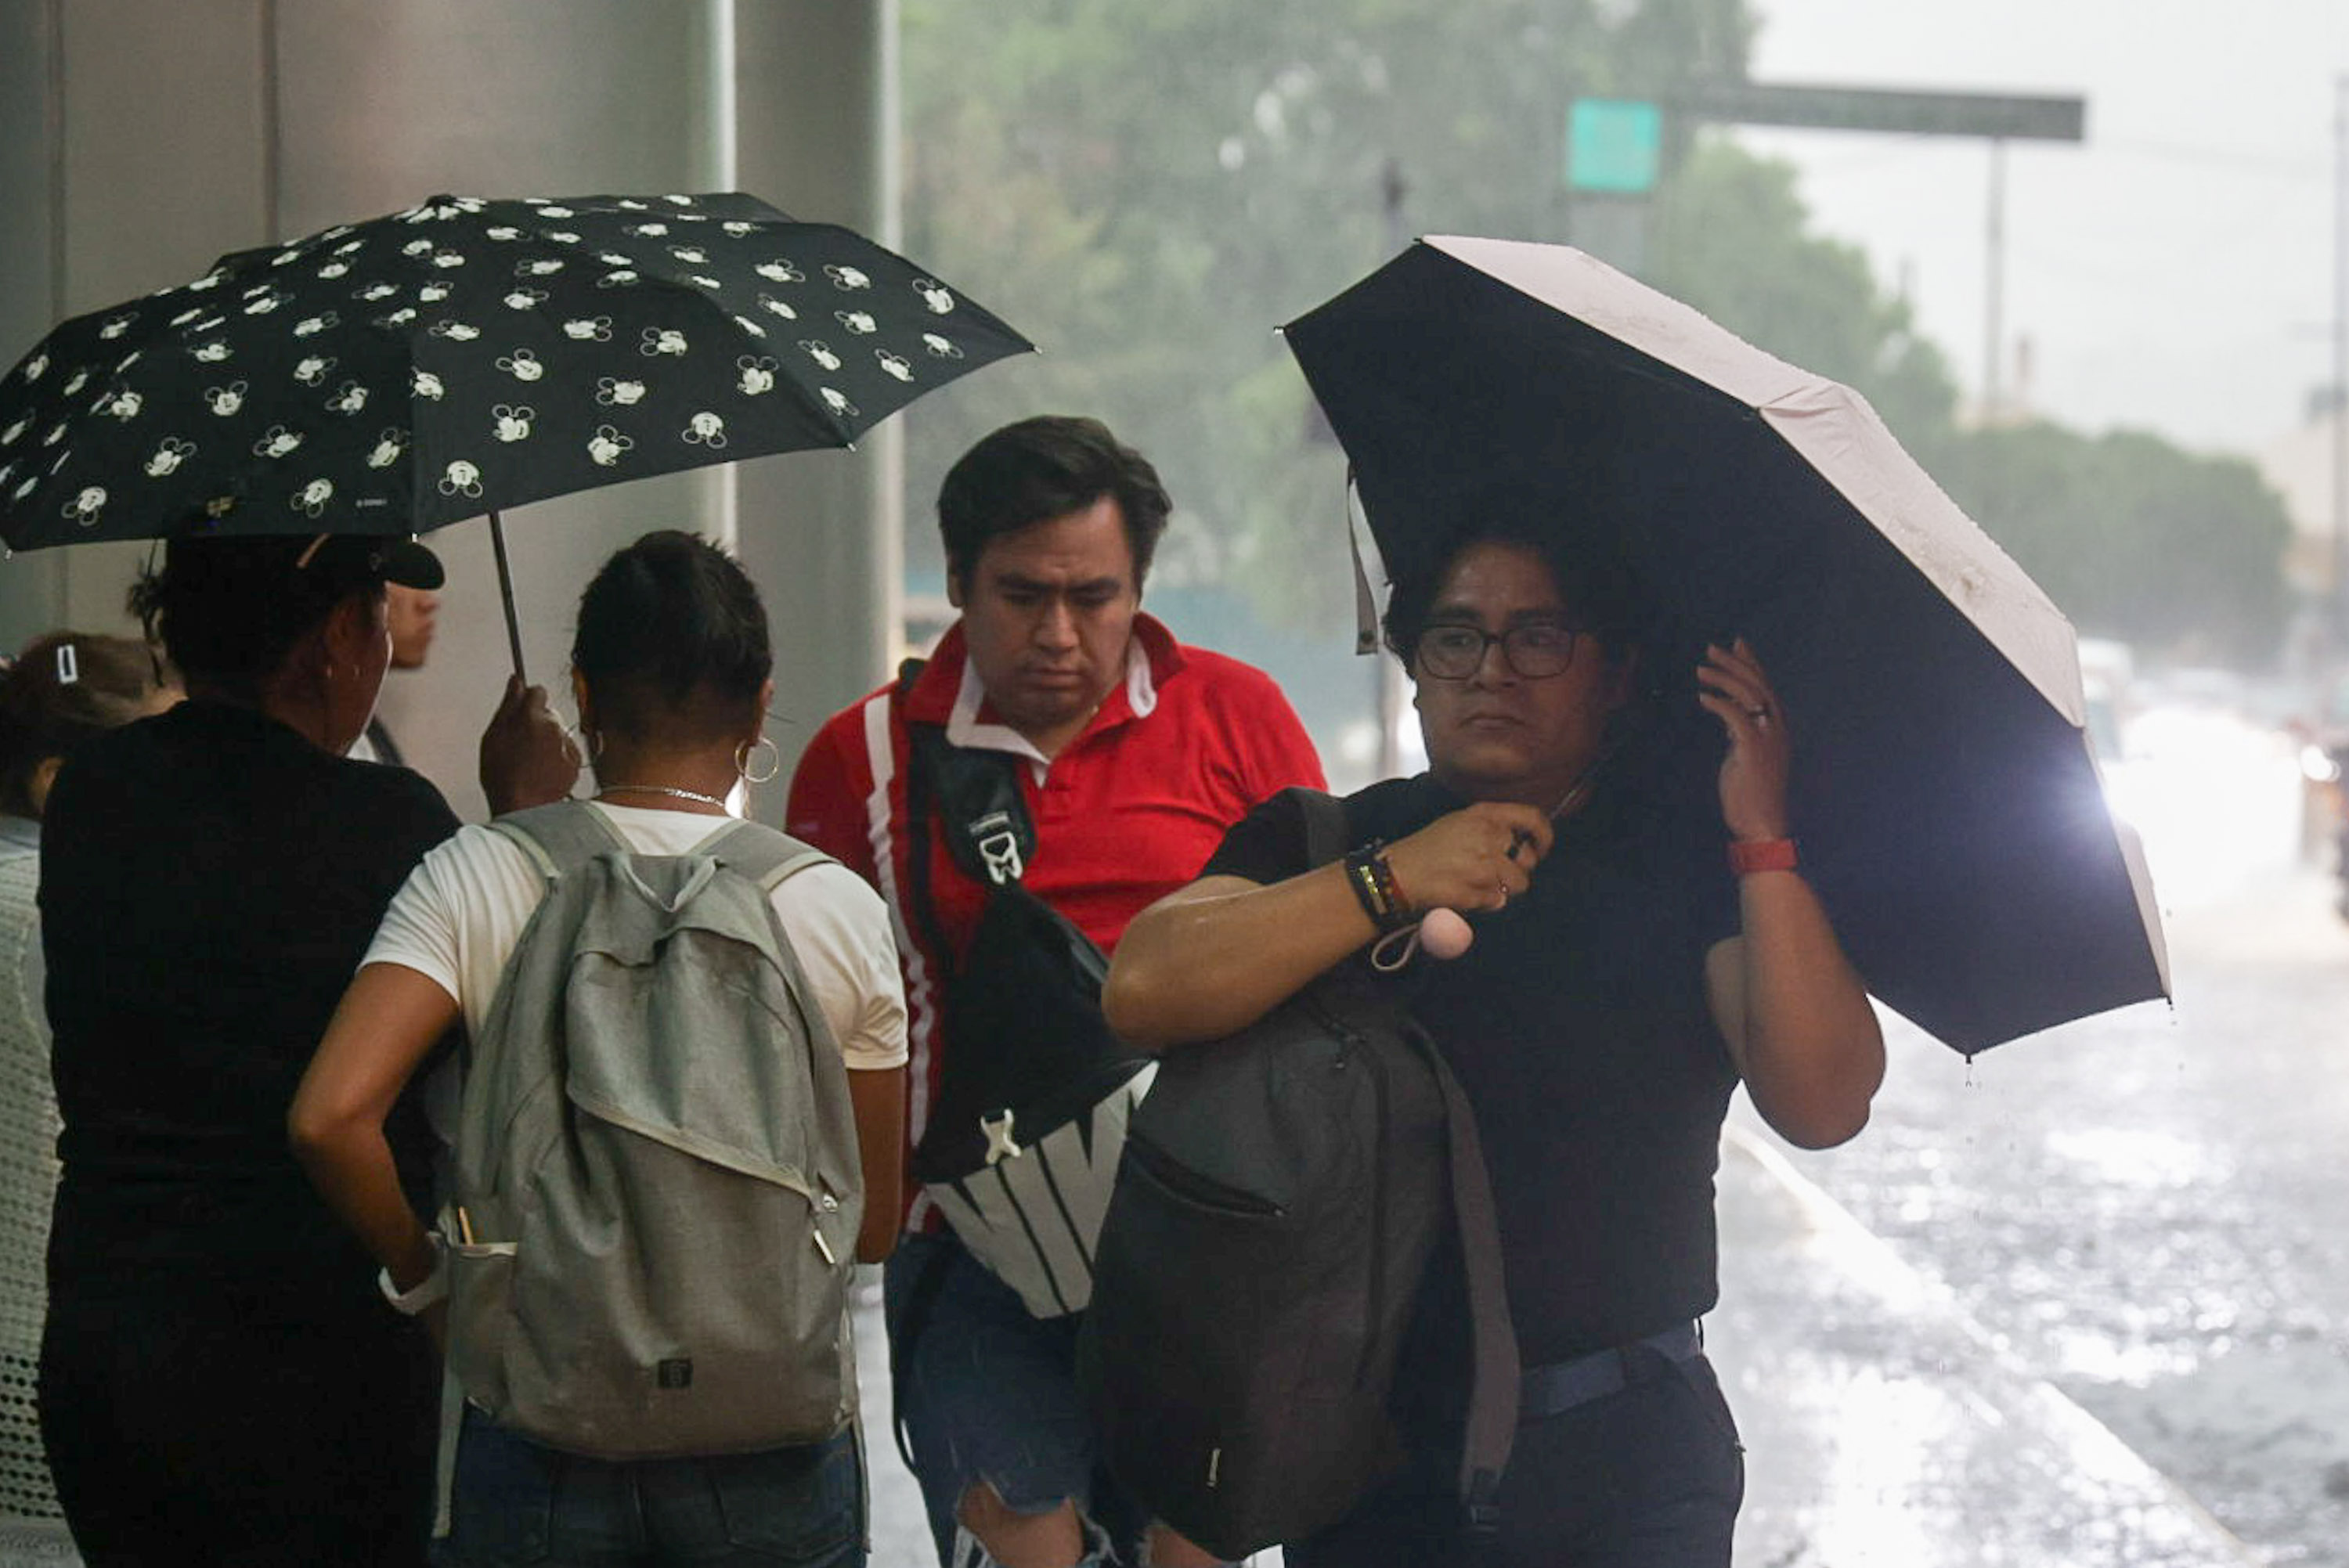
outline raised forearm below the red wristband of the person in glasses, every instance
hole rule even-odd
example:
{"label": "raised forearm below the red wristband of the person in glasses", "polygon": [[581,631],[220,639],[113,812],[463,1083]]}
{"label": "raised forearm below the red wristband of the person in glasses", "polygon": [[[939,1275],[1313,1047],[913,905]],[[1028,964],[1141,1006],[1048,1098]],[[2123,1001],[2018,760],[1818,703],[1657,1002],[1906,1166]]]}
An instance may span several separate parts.
{"label": "raised forearm below the red wristband of the person in glasses", "polygon": [[1745,1089],[1790,1143],[1844,1143],[1867,1124],[1884,1082],[1867,991],[1802,876],[1745,876],[1738,904]]}

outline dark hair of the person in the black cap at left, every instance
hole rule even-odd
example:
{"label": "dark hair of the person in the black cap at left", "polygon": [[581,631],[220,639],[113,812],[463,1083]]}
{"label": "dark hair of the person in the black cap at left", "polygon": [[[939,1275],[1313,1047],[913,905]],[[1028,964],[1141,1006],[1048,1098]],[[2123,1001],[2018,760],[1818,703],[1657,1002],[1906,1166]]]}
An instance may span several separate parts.
{"label": "dark hair of the person in the black cap at left", "polygon": [[132,582],[129,610],[190,685],[258,699],[294,646],[383,575],[348,540],[298,533],[181,535]]}

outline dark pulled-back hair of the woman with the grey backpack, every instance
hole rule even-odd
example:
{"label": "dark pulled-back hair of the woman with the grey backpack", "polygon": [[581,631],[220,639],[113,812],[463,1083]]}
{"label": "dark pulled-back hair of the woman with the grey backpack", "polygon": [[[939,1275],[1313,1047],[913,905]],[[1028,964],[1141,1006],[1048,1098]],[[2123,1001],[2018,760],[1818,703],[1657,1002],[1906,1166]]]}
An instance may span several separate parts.
{"label": "dark pulled-back hair of the woman with the grey backpack", "polygon": [[606,730],[702,744],[756,721],[775,657],[749,573],[709,540],[662,528],[615,552],[580,594],[571,664]]}

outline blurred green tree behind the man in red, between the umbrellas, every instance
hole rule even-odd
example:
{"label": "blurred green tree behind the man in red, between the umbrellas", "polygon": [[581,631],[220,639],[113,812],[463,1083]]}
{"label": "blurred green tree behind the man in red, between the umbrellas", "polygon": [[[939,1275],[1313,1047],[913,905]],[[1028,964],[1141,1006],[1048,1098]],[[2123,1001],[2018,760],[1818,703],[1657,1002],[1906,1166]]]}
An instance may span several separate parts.
{"label": "blurred green tree behind the man in red, between the umbrellas", "polygon": [[1273,326],[1414,232],[1557,237],[1564,108],[1628,26],[1600,9],[1644,7],[907,0],[907,249],[1045,347],[909,420],[916,484],[1001,418],[1102,413],[1184,509],[1170,580],[1344,615],[1339,455]]}

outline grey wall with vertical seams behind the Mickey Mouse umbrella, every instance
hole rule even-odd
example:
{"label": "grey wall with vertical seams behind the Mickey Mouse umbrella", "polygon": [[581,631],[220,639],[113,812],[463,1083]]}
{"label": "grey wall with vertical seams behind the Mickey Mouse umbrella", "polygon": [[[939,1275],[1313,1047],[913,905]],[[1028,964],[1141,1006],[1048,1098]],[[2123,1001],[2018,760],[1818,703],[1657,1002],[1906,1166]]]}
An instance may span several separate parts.
{"label": "grey wall with vertical seams behind the Mickey Mouse umbrella", "polygon": [[[435,192],[749,190],[895,228],[893,0],[0,0],[0,364],[214,256]],[[594,566],[655,526],[738,542],[778,638],[785,758],[895,638],[895,437],[641,479],[505,516],[524,655],[557,688]],[[484,523],[383,714],[460,815],[507,667]],[[0,563],[0,646],[124,629],[139,547]],[[775,817],[782,786],[761,815]]]}

